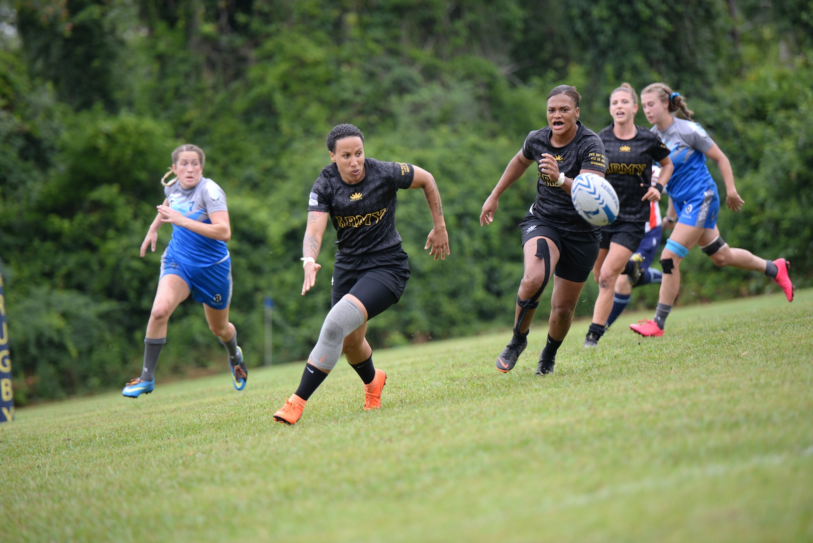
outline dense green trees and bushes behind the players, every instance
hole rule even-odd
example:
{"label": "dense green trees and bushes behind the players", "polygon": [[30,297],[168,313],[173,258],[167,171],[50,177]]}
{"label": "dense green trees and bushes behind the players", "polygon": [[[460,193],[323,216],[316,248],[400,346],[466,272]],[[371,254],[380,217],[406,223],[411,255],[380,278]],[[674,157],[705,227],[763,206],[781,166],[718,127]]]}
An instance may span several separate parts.
{"label": "dense green trees and bushes behind the players", "polygon": [[[0,0],[0,257],[15,397],[137,374],[170,228],[158,252],[137,251],[180,142],[207,151],[205,173],[228,195],[232,320],[250,365],[263,359],[265,298],[275,363],[307,355],[328,309],[330,229],[305,297],[298,258],[324,136],[340,122],[363,129],[368,156],[435,175],[452,244],[445,262],[422,254],[429,213],[419,191],[403,192],[413,274],[371,322],[374,347],[510,326],[532,173],[502,197],[493,226],[480,228],[480,207],[563,82],[581,90],[581,119],[597,130],[621,81],[679,89],[746,199],[721,213],[724,238],[788,257],[810,284],[811,26],[810,0]],[[773,288],[700,252],[684,271],[681,304]],[[596,291],[589,282],[580,315]],[[638,303],[656,298],[636,292]],[[224,364],[198,304],[180,306],[169,335],[160,373]]]}

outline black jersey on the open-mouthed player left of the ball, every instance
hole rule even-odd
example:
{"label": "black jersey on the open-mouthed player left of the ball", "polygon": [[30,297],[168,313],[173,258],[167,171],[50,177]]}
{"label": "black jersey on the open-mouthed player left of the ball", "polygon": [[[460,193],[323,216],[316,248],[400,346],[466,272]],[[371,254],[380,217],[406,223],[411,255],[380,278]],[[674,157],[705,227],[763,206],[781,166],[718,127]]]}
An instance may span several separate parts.
{"label": "black jersey on the open-mouthed player left of the ball", "polygon": [[591,232],[598,226],[591,225],[576,212],[570,195],[561,186],[556,186],[556,179],[551,179],[539,169],[542,154],[553,155],[559,163],[559,171],[571,179],[583,169],[604,172],[604,144],[593,130],[576,120],[576,137],[564,147],[550,145],[550,126],[534,130],[525,138],[522,154],[528,160],[537,163],[537,200],[531,212],[543,221],[568,232]]}

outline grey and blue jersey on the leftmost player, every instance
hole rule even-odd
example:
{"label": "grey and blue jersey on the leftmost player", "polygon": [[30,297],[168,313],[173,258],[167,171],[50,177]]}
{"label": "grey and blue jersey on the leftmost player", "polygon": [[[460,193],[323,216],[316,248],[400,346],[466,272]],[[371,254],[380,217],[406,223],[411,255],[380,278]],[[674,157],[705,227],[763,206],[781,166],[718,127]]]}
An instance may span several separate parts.
{"label": "grey and blue jersey on the leftmost player", "polygon": [[[210,213],[228,211],[223,189],[207,177],[201,177],[200,182],[191,189],[183,189],[180,182],[175,182],[165,187],[163,192],[170,208],[193,221],[211,225]],[[183,226],[172,225],[172,239],[163,257],[180,264],[211,266],[226,260],[228,249],[226,242],[220,239],[207,238]]]}

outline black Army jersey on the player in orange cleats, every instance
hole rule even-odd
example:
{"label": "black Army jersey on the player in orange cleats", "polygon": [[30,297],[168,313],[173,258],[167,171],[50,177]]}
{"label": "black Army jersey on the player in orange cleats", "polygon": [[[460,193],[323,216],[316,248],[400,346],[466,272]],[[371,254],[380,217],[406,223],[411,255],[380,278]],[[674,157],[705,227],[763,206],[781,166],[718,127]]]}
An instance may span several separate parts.
{"label": "black Army jersey on the player in orange cleats", "polygon": [[341,179],[336,163],[322,169],[308,199],[308,211],[329,212],[337,245],[344,255],[358,256],[397,247],[395,193],[408,189],[412,164],[364,159],[364,178],[353,185]]}

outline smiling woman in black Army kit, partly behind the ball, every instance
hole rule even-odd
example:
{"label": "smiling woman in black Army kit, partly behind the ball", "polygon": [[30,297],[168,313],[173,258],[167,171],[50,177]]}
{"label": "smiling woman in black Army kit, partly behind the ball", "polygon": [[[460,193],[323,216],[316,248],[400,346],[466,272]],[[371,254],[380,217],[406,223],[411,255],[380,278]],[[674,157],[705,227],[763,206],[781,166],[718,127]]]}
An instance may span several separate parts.
{"label": "smiling woman in black Army kit, partly behind the ball", "polygon": [[[585,347],[595,347],[606,330],[613,304],[615,281],[628,265],[644,238],[650,219],[650,202],[658,202],[663,186],[672,175],[669,149],[649,129],[635,125],[638,95],[632,85],[622,83],[610,94],[611,125],[598,133],[607,157],[606,179],[618,195],[619,211],[615,222],[602,227],[598,259],[593,278],[598,282],[598,299],[593,307],[593,322],[585,338]],[[658,182],[653,186],[652,163],[661,165]]]}

